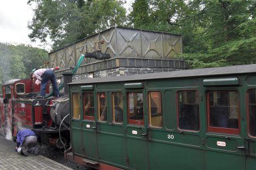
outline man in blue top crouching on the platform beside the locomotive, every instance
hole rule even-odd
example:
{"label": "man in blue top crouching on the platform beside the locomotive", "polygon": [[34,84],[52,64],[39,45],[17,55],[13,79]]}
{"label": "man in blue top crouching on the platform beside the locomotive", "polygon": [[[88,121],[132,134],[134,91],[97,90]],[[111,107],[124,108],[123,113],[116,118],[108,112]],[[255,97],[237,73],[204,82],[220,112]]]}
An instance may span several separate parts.
{"label": "man in blue top crouching on the platform beside the locomotive", "polygon": [[28,156],[28,152],[38,155],[40,149],[38,147],[38,137],[34,131],[23,129],[17,133],[16,151],[20,155]]}

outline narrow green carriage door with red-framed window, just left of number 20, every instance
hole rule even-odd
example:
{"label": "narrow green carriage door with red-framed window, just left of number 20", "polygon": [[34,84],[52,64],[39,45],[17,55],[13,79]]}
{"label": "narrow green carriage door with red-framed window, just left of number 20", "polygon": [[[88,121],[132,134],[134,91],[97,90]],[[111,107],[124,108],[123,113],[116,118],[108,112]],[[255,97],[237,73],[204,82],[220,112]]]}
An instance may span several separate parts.
{"label": "narrow green carriage door with red-framed window, just left of number 20", "polygon": [[149,169],[146,101],[143,91],[127,92],[127,163],[131,169]]}

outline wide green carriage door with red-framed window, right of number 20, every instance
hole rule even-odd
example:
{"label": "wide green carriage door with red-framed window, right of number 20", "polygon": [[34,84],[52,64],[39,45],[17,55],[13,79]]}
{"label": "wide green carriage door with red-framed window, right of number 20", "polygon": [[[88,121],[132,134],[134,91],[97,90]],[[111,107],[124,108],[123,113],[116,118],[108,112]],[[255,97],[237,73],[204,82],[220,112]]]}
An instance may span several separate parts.
{"label": "wide green carriage door with red-framed window, right of number 20", "polygon": [[234,88],[206,93],[205,169],[245,169],[239,96],[242,93]]}

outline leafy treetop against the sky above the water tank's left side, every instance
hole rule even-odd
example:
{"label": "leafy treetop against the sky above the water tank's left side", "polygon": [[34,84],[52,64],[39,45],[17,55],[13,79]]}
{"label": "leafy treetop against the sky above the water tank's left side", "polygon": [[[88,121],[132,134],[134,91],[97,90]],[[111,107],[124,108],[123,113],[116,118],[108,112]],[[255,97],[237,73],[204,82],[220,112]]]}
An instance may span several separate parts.
{"label": "leafy treetop against the sky above the water tank's left side", "polygon": [[32,41],[53,41],[53,49],[72,44],[84,37],[114,25],[123,25],[126,11],[121,1],[114,0],[30,0],[36,4],[28,28]]}

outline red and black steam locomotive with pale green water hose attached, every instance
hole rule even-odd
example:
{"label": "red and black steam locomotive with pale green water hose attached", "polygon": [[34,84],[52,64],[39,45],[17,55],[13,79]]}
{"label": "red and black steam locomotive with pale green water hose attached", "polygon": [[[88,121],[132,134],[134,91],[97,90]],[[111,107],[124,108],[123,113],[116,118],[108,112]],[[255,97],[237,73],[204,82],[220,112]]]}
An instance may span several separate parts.
{"label": "red and black steam locomotive with pale green water hose attached", "polygon": [[53,97],[51,84],[47,84],[46,98],[38,99],[40,83],[35,79],[14,79],[2,86],[0,98],[0,129],[7,138],[15,140],[16,134],[22,129],[32,129],[39,137],[39,142],[51,147],[66,148],[69,146],[69,92],[67,83],[72,82],[84,58],[107,59],[109,54],[101,52],[85,53],[72,73],[64,73],[64,95]]}

